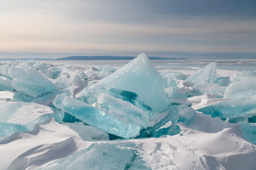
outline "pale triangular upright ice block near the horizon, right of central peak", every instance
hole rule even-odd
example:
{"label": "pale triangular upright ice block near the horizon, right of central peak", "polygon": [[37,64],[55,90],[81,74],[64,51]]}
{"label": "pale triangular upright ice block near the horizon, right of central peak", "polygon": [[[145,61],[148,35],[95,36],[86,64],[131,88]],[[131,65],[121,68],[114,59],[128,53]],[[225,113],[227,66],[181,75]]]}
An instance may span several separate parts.
{"label": "pale triangular upright ice block near the horizon, right of central peak", "polygon": [[217,79],[217,68],[215,63],[211,63],[203,69],[197,70],[196,73],[187,77],[186,81],[196,84],[213,83]]}

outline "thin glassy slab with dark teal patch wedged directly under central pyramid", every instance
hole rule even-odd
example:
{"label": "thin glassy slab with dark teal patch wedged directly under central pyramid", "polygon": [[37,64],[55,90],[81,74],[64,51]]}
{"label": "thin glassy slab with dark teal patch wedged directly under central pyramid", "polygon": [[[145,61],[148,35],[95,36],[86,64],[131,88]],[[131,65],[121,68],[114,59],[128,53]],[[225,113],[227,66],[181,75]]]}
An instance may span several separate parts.
{"label": "thin glassy slab with dark teal patch wedged directly under central pyramid", "polygon": [[[110,96],[113,96],[115,98],[119,98],[123,101],[132,103],[134,106],[142,109],[145,111],[148,115],[152,115],[152,109],[151,107],[147,106],[140,98],[139,95],[136,93],[126,91],[126,90],[120,90],[112,87],[106,87],[102,85],[96,84],[94,87],[90,87],[85,89],[85,93],[89,91],[94,96],[99,96],[102,93],[108,94]],[[82,95],[82,94],[80,94]]]}

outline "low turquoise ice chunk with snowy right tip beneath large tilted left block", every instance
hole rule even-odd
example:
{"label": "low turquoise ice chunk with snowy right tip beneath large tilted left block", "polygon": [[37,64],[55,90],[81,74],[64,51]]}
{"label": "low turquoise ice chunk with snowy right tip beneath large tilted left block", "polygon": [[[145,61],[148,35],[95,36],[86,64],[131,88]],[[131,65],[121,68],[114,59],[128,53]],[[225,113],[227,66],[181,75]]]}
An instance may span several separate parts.
{"label": "low turquoise ice chunk with snowy right tip beneath large tilted left block", "polygon": [[32,102],[42,104],[44,106],[53,106],[52,101],[58,94],[65,94],[72,97],[74,93],[74,86],[70,86],[64,90],[50,91],[38,95]]}

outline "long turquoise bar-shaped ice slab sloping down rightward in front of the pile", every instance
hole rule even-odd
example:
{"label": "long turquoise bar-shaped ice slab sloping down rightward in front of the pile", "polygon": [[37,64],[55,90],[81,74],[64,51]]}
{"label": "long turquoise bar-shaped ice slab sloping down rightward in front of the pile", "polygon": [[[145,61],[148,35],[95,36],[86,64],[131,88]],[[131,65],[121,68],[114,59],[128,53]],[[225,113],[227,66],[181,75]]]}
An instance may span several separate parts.
{"label": "long turquoise bar-shaped ice slab sloping down rightward in front of the pile", "polygon": [[79,120],[116,136],[130,138],[137,135],[141,129],[133,122],[66,95],[57,95],[52,103],[56,108],[68,112]]}

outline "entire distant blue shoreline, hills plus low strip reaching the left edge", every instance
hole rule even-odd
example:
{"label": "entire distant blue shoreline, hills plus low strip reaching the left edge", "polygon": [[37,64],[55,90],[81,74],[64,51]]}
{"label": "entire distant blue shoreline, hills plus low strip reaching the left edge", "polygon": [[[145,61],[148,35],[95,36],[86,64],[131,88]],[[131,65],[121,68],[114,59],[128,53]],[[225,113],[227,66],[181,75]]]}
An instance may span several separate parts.
{"label": "entire distant blue shoreline, hills plus low strip reaching the left edge", "polygon": [[[136,57],[131,56],[110,56],[110,55],[104,55],[104,56],[69,56],[69,57],[63,57],[58,59],[33,59],[35,61],[38,60],[133,60]],[[163,58],[163,57],[148,57],[149,60],[187,60],[184,58]],[[0,61],[8,61],[8,60],[31,60],[31,58],[24,58],[24,59],[0,59]]]}

